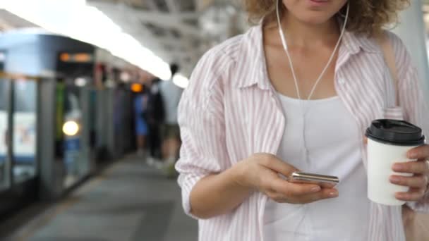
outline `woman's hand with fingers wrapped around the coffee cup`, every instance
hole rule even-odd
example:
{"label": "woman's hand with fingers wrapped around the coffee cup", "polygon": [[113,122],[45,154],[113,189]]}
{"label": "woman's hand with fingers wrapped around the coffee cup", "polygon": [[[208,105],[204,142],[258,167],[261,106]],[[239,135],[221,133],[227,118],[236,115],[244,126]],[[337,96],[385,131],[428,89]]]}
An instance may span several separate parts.
{"label": "woman's hand with fingers wrapped around the coffee cup", "polygon": [[397,199],[406,202],[418,201],[423,198],[428,190],[429,146],[425,144],[411,149],[407,155],[409,159],[418,159],[418,161],[395,163],[392,169],[397,173],[413,173],[414,175],[412,177],[392,175],[390,182],[410,187],[409,192],[397,192],[395,195]]}

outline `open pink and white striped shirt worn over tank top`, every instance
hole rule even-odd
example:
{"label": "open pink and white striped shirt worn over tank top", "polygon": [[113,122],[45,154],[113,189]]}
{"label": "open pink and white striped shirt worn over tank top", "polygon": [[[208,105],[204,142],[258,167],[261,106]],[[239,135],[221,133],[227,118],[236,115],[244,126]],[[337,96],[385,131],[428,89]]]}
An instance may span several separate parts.
{"label": "open pink and white striped shirt worn over tank top", "polygon": [[[378,118],[404,118],[429,133],[428,111],[416,68],[401,40],[389,33],[399,78],[399,103],[382,51],[373,39],[346,32],[339,49],[335,88],[356,119],[362,135]],[[255,153],[277,154],[286,125],[282,106],[267,75],[262,25],[229,39],[203,56],[179,106],[183,146],[176,164],[183,208],[195,183]],[[365,145],[361,151],[365,156]],[[366,160],[363,158],[363,165]],[[362,193],[362,195],[366,195]],[[199,221],[199,240],[263,240],[267,197],[255,192],[229,214]],[[409,203],[429,211],[429,195]],[[371,204],[368,233],[372,241],[403,241],[401,207]],[[191,214],[190,214],[191,215]]]}

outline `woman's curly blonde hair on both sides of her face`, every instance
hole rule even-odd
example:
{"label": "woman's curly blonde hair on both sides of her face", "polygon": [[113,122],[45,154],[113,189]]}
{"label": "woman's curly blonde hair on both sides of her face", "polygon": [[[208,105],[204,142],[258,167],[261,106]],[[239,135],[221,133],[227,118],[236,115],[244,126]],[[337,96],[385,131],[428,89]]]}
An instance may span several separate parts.
{"label": "woman's curly blonde hair on both sides of her face", "polygon": [[[349,0],[350,13],[347,30],[356,34],[374,35],[385,25],[397,23],[397,13],[409,6],[409,0]],[[243,0],[249,14],[250,23],[258,23],[262,18],[275,19],[276,0]],[[285,8],[279,0],[282,12]],[[339,14],[346,12],[346,6]]]}

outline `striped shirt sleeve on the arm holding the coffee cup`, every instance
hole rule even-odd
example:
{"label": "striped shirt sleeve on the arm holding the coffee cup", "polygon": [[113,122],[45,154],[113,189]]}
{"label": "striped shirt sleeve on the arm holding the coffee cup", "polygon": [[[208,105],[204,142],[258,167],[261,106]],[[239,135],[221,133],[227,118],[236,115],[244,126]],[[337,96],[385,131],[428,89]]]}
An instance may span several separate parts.
{"label": "striped shirt sleeve on the arm holding the coffee cup", "polygon": [[[397,58],[399,104],[404,109],[404,119],[422,128],[423,134],[429,135],[429,108],[423,96],[423,87],[418,70],[411,63],[411,56],[401,39],[391,35],[392,45]],[[429,190],[418,202],[408,202],[415,211],[429,213]]]}

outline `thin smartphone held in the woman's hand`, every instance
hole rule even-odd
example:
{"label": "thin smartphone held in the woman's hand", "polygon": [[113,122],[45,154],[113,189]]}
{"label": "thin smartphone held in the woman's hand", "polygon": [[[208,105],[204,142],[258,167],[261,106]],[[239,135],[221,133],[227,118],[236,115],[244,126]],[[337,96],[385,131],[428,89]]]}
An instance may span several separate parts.
{"label": "thin smartphone held in the woman's hand", "polygon": [[339,178],[335,176],[314,173],[294,172],[287,179],[291,183],[310,183],[325,188],[335,187],[339,183]]}

